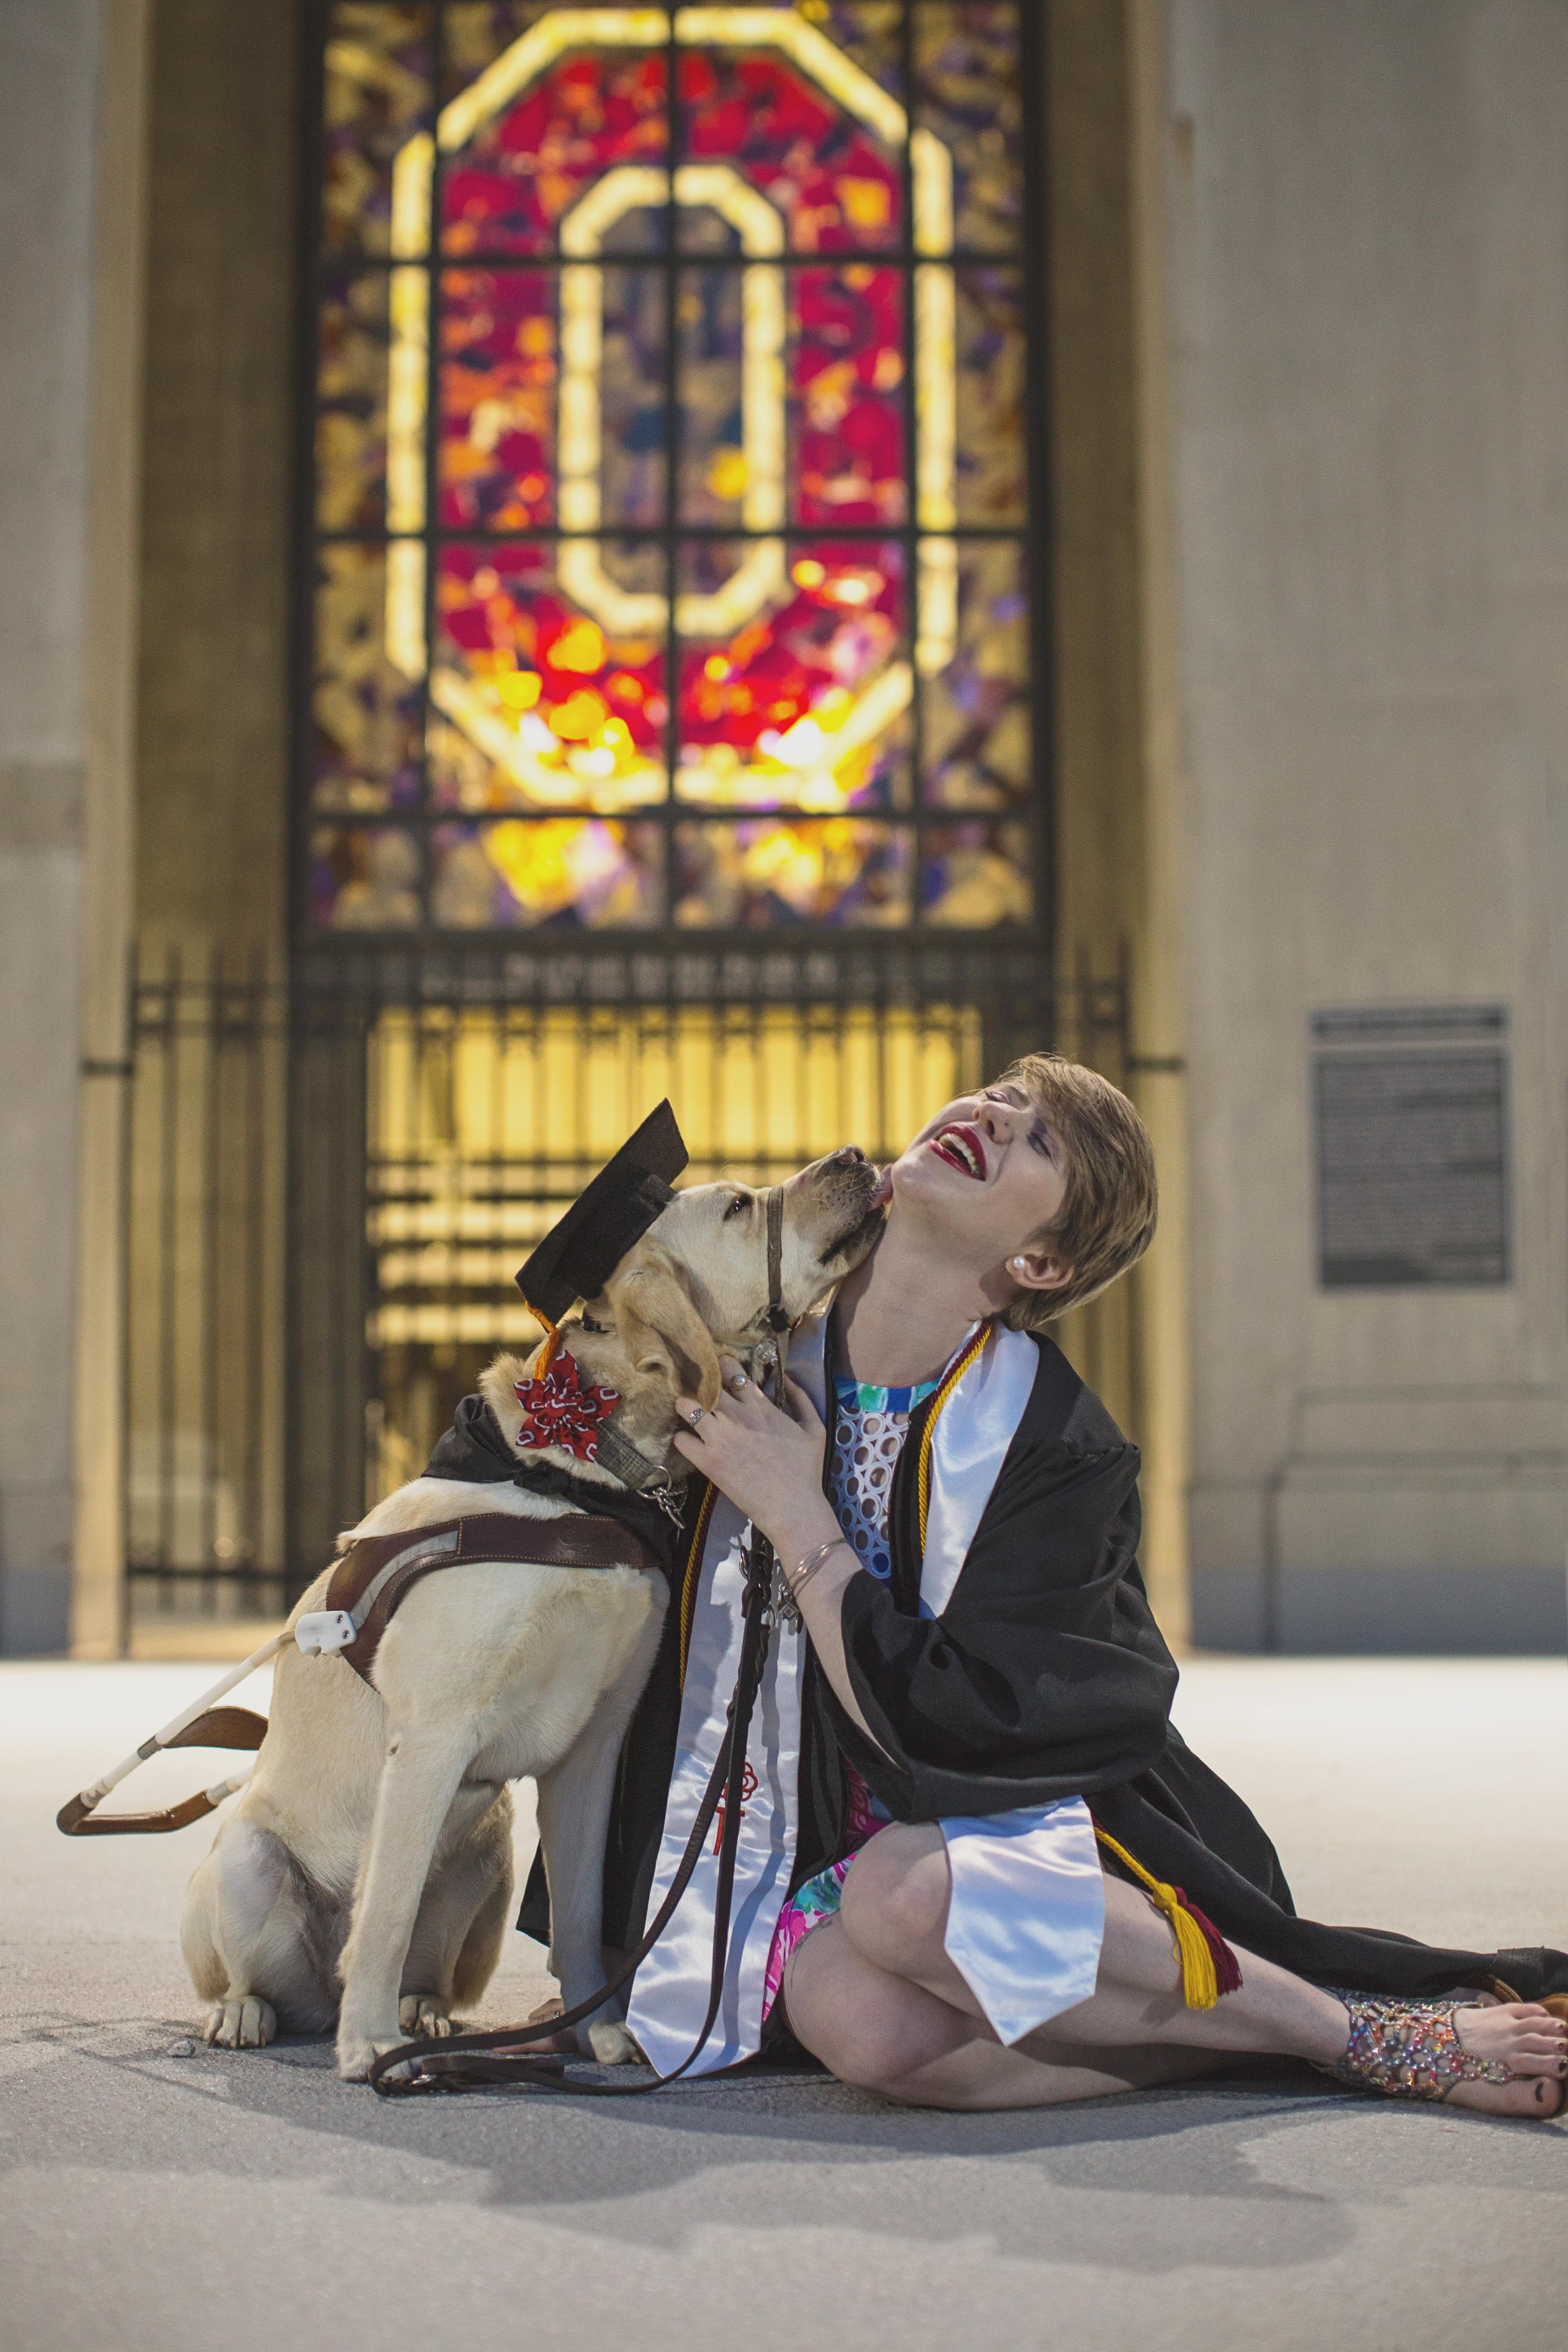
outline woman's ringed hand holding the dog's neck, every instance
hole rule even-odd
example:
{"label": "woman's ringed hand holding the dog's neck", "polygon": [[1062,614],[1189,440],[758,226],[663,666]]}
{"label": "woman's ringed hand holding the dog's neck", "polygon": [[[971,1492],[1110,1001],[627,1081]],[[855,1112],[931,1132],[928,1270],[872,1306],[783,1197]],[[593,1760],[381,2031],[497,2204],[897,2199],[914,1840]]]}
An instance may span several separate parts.
{"label": "woman's ringed hand holding the dog's neck", "polygon": [[693,1397],[675,1399],[675,1411],[689,1423],[689,1435],[675,1439],[677,1451],[693,1470],[710,1477],[792,1566],[839,1534],[823,1494],[827,1432],[811,1397],[795,1381],[785,1381],[790,1409],[780,1411],[755,1381],[743,1376],[731,1355],[719,1357],[719,1376],[724,1395],[715,1411],[703,1411]]}

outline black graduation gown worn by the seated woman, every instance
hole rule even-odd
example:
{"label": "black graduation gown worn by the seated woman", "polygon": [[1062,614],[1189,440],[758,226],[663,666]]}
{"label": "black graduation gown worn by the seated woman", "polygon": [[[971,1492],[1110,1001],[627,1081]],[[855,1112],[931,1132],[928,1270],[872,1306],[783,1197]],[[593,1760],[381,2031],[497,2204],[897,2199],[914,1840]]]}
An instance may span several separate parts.
{"label": "black graduation gown worn by the seated woman", "polygon": [[[1039,1341],[1030,1402],[954,1592],[940,1618],[922,1618],[917,1456],[933,1402],[914,1411],[893,1479],[891,1578],[856,1576],[844,1590],[844,1653],[877,1740],[844,1712],[820,1665],[806,1677],[795,1886],[842,1853],[849,1757],[896,1820],[1086,1797],[1095,1823],[1222,1936],[1321,1985],[1568,1992],[1568,1957],[1547,1947],[1439,1950],[1295,1917],[1265,1830],[1171,1726],[1178,1670],[1138,1571],[1138,1449],[1051,1341]],[[698,1505],[701,1491],[621,1755],[604,1858],[604,1938],[621,1947],[642,1933],[663,1832]],[[548,1940],[538,1865],[517,1926]]]}

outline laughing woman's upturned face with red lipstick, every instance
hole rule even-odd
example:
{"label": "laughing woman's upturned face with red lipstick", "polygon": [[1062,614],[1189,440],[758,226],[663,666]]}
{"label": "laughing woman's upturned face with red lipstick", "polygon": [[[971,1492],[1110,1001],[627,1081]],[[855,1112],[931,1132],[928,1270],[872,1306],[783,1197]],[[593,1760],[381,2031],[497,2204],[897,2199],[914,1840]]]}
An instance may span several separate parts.
{"label": "laughing woman's upturned face with red lipstick", "polygon": [[1013,1082],[938,1110],[893,1162],[889,1183],[900,1218],[919,1218],[933,1247],[978,1275],[1004,1268],[1030,1289],[1058,1289],[1072,1272],[1037,1244],[1067,1200],[1063,1141]]}

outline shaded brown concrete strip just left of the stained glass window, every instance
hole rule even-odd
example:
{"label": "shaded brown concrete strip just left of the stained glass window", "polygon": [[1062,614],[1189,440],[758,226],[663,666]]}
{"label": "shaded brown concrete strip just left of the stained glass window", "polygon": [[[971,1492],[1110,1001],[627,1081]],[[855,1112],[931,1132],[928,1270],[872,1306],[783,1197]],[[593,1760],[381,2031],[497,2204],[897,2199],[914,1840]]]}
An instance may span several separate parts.
{"label": "shaded brown concrete strip just left of the stained glass window", "polygon": [[158,0],[148,120],[136,931],[282,960],[294,0]]}

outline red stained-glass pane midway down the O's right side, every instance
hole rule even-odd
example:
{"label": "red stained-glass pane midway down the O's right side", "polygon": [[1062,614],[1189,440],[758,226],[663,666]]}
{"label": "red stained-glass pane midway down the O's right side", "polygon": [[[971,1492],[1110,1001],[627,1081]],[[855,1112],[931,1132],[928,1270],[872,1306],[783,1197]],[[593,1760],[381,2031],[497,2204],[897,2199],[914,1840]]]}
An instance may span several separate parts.
{"label": "red stained-glass pane midway down the O's right side", "polygon": [[795,520],[905,517],[903,280],[865,263],[792,270]]}

